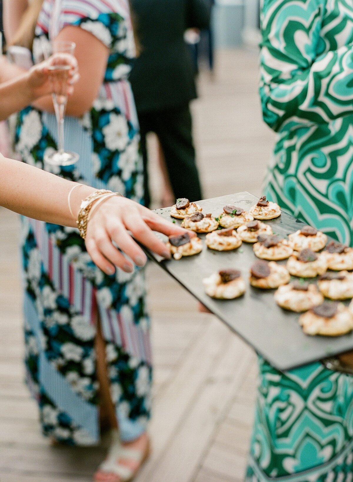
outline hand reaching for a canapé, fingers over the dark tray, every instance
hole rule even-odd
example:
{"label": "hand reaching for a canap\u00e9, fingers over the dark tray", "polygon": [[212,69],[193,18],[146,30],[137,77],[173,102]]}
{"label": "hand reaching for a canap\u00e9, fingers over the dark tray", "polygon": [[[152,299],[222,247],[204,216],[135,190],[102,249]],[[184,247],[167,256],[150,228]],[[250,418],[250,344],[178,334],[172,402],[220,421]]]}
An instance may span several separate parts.
{"label": "hand reaching for a canap\u00e9, fingers over the dark tray", "polygon": [[[135,265],[145,265],[147,257],[128,231],[136,241],[167,259],[170,258],[170,251],[153,231],[167,236],[185,233],[185,229],[174,226],[135,201],[122,197],[107,199],[92,214],[86,232],[87,251],[106,274],[114,274],[115,266],[128,273],[133,271],[131,261],[120,253],[112,241]],[[195,236],[195,233],[188,232],[190,236]]]}

